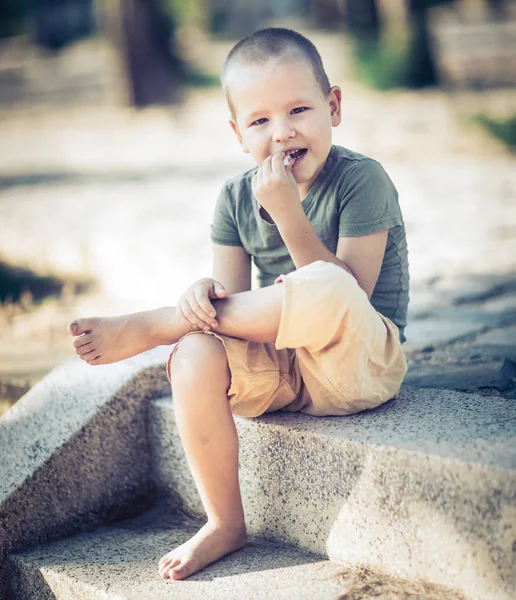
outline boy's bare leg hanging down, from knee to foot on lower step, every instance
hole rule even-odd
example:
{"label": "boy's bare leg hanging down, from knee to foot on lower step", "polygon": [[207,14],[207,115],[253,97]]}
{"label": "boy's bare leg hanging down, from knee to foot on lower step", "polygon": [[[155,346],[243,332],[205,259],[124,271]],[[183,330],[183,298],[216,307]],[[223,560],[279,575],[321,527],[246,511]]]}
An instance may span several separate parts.
{"label": "boy's bare leg hanging down, from knee to foot on lower step", "polygon": [[245,546],[247,536],[222,342],[212,335],[190,335],[176,346],[170,367],[177,428],[208,516],[196,535],[159,561],[162,577],[183,579]]}

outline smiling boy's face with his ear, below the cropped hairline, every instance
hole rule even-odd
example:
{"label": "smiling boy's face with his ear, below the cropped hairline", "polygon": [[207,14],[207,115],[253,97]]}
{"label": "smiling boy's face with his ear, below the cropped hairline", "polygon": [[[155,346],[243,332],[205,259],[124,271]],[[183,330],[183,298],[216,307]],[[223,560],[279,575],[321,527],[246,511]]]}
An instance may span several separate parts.
{"label": "smiling boy's face with his ear, below the cropped hairline", "polygon": [[234,69],[230,123],[242,150],[258,165],[279,150],[299,150],[292,174],[304,198],[330,152],[331,128],[340,123],[340,89],[333,87],[325,98],[302,58]]}

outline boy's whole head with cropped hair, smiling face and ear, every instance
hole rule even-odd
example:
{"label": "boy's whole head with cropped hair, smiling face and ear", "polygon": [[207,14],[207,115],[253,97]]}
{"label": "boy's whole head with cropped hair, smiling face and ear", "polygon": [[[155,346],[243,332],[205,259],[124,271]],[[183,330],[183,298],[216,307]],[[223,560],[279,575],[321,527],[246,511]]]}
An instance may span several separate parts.
{"label": "boy's whole head with cropped hair, smiling face and ear", "polygon": [[221,80],[243,151],[261,165],[297,150],[292,174],[307,192],[330,152],[341,102],[312,42],[289,29],[257,31],[231,50]]}

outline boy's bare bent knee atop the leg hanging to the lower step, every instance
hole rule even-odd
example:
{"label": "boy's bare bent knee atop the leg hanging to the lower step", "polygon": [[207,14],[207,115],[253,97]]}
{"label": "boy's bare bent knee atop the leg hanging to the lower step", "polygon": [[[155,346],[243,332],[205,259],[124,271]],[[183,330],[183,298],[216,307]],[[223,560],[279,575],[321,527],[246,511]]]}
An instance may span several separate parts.
{"label": "boy's bare bent knee atop the leg hanging to the lower step", "polygon": [[224,344],[217,337],[203,332],[195,332],[181,339],[170,358],[172,383],[182,380],[198,381],[206,377],[221,377],[229,372]]}

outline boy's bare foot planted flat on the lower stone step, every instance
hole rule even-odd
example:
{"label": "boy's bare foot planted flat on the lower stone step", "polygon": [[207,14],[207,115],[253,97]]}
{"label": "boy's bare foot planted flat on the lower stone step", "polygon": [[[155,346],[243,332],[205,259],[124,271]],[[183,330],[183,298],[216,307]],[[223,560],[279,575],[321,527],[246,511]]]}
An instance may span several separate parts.
{"label": "boy's bare foot planted flat on the lower stone step", "polygon": [[187,542],[160,558],[159,574],[165,579],[184,579],[246,544],[245,525],[228,528],[208,522]]}

